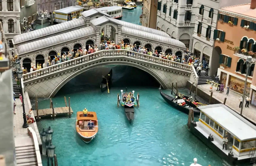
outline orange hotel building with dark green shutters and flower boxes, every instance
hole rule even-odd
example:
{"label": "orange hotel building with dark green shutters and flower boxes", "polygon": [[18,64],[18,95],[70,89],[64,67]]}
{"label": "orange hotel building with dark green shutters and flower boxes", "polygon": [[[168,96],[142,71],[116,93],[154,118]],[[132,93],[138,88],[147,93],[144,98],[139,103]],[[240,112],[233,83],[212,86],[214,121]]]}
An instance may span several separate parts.
{"label": "orange hotel building with dark green shutters and flower boxes", "polygon": [[[231,90],[243,94],[248,71],[246,95],[256,105],[256,1],[251,4],[224,7],[219,10],[218,24],[213,33],[214,49],[212,67],[218,67],[221,82]],[[252,56],[247,68],[246,59]]]}

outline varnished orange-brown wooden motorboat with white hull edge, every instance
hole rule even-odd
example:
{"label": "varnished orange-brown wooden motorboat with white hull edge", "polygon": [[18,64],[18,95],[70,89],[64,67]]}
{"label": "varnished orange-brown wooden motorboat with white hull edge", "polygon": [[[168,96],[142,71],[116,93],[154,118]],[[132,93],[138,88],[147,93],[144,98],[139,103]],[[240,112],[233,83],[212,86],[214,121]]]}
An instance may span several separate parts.
{"label": "varnished orange-brown wooden motorboat with white hull edge", "polygon": [[[90,120],[94,123],[94,126],[88,126]],[[76,132],[78,133],[80,139],[85,143],[91,142],[98,132],[98,120],[96,112],[88,112],[87,117],[84,117],[83,111],[78,111],[75,125]]]}

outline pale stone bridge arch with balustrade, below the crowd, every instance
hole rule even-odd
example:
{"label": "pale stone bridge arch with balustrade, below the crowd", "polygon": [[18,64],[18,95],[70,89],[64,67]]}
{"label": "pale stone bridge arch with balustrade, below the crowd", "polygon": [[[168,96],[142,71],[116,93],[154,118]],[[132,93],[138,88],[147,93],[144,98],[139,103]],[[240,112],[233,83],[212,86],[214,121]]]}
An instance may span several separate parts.
{"label": "pale stone bridge arch with balustrade, below the crowd", "polygon": [[24,74],[24,91],[27,91],[32,98],[35,95],[53,97],[75,76],[101,65],[137,67],[151,74],[163,88],[171,88],[171,82],[177,82],[178,87],[185,87],[188,80],[192,82],[198,80],[191,65],[125,49],[107,49]]}

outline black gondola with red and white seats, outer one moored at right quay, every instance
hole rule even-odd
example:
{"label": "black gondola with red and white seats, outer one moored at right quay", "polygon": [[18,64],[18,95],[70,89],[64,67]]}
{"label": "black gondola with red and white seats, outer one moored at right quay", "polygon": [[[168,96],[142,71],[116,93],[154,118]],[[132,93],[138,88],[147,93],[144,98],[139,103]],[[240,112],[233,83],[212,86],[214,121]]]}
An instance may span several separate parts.
{"label": "black gondola with red and white seats, outer one moored at right quay", "polygon": [[[184,101],[184,99],[175,99],[171,96],[168,96],[167,94],[165,94],[164,92],[162,92],[161,90],[161,86],[159,88],[160,94],[161,96],[165,99],[165,101],[170,104],[172,107],[176,108],[177,110],[184,112],[186,114],[189,114],[189,104],[185,104],[185,105],[181,105]],[[182,101],[183,100],[183,101]],[[181,102],[180,102],[181,101]],[[185,101],[184,101],[185,102]],[[191,104],[192,105],[192,104]],[[198,110],[197,108],[194,109],[194,115],[200,115],[200,110]]]}

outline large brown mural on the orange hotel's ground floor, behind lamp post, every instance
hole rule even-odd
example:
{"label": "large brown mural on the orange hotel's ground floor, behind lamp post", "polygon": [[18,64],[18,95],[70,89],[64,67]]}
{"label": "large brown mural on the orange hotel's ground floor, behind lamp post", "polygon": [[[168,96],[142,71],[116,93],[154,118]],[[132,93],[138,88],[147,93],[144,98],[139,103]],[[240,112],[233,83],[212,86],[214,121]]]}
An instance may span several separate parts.
{"label": "large brown mural on the orange hotel's ground floor, behind lamp post", "polygon": [[[241,94],[244,93],[243,80],[236,78],[234,76],[230,76],[229,85],[230,85],[230,89],[232,89],[233,91],[237,91],[238,93],[241,93]],[[245,95],[248,95],[250,93],[250,86],[251,86],[251,83],[247,82]]]}

